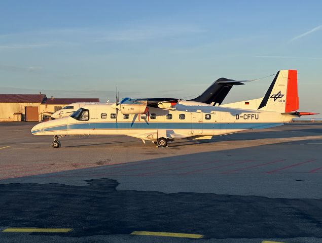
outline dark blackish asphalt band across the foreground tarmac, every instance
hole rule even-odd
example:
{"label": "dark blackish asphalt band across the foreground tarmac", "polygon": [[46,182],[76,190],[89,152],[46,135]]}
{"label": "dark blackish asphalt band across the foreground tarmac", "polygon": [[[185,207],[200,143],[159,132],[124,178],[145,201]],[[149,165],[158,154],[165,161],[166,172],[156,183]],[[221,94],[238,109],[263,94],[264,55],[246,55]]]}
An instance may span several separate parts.
{"label": "dark blackish asphalt band across the foreground tarmac", "polygon": [[322,199],[118,191],[116,180],[87,182],[0,185],[0,207],[6,209],[0,225],[74,228],[65,235],[70,237],[134,230],[206,238],[322,237]]}

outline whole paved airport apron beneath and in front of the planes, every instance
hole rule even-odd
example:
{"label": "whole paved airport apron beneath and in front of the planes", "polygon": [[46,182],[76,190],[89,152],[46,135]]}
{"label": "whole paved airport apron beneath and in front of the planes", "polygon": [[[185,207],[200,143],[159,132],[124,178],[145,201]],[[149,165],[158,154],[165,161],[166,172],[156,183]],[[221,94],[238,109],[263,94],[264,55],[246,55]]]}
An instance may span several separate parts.
{"label": "whole paved airport apron beneath and in front of the planes", "polygon": [[[32,126],[0,123],[1,242],[322,242],[321,123],[168,148]],[[34,227],[72,230],[1,232]]]}

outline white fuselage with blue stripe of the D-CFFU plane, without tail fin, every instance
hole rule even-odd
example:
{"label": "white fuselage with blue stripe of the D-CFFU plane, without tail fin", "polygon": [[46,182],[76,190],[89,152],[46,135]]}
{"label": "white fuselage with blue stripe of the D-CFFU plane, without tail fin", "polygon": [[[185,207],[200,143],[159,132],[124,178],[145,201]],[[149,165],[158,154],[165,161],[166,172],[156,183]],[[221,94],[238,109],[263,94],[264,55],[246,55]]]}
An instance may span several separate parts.
{"label": "white fuselage with blue stripe of the D-CFFU plane, without tail fin", "polygon": [[88,120],[65,117],[34,126],[34,135],[128,135],[144,140],[211,138],[248,129],[275,127],[292,120],[280,112],[240,110],[188,103],[166,110],[149,107],[146,114],[123,115],[111,104],[86,104]]}

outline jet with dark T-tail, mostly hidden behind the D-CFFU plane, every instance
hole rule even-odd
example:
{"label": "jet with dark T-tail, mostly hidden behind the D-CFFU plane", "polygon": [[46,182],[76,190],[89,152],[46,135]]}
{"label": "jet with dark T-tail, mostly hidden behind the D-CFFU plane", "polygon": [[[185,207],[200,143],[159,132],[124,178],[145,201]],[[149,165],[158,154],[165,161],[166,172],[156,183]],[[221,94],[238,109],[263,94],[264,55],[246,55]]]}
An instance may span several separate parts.
{"label": "jet with dark T-tail, mostly hidden behind the D-CFFU plane", "polygon": [[[230,82],[230,81],[233,81],[233,82]],[[244,85],[243,82],[247,82],[247,81],[251,81],[251,80],[236,81],[233,79],[221,77],[217,79],[215,82],[213,82],[201,95],[199,95],[194,99],[191,99],[191,101],[197,101],[197,102],[202,102],[202,103],[212,104],[212,105],[220,105],[234,85]],[[54,114],[51,115],[51,117],[54,119],[67,117],[73,114],[82,106],[86,104],[91,104],[91,103],[92,102],[90,103],[77,102],[77,103],[69,104],[63,107],[62,109],[57,110]],[[109,102],[106,102],[106,103],[110,104]],[[106,103],[103,103],[103,104],[106,104]],[[97,102],[95,104],[97,104]]]}

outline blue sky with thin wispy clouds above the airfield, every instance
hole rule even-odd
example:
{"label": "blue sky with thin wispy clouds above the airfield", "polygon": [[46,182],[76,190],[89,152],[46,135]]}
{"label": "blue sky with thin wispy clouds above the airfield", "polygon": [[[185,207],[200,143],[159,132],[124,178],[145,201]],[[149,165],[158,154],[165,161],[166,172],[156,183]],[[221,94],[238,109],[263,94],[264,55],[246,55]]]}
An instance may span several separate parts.
{"label": "blue sky with thin wispy clouds above the airfield", "polygon": [[[118,85],[123,97],[193,97],[219,77],[298,69],[300,110],[322,113],[321,9],[321,1],[3,0],[0,89],[113,100]],[[234,87],[227,102],[261,97],[271,80]]]}

